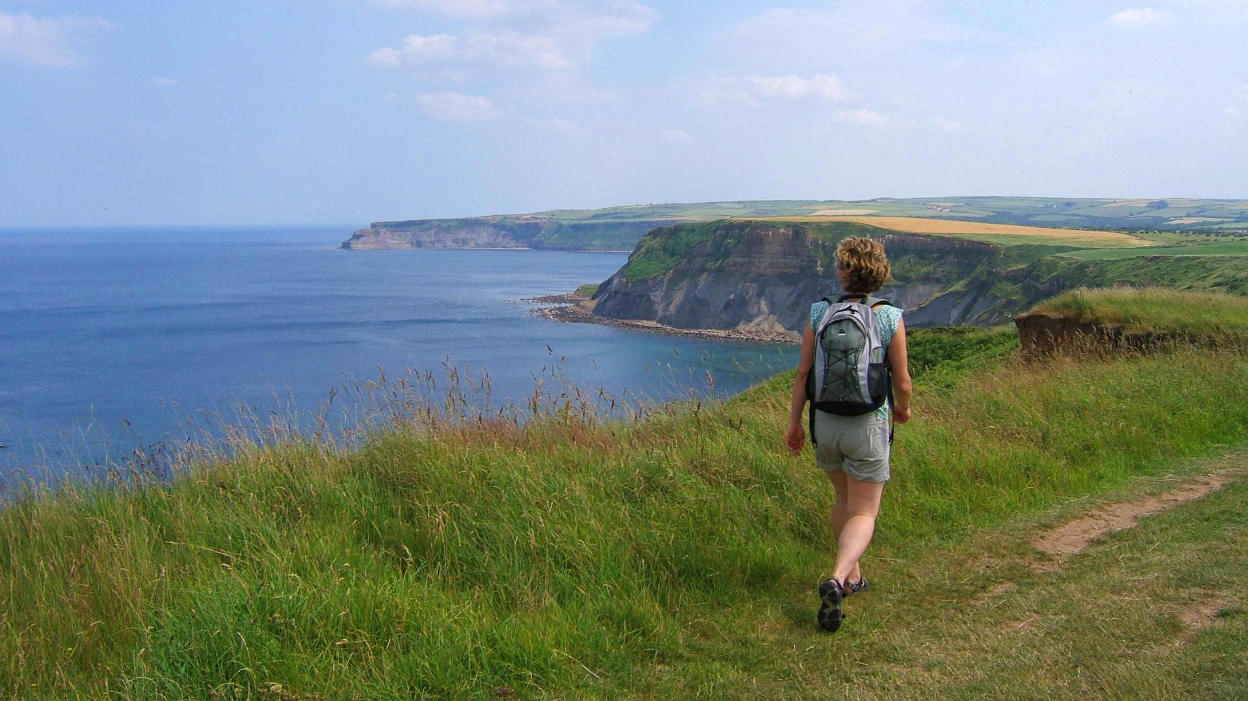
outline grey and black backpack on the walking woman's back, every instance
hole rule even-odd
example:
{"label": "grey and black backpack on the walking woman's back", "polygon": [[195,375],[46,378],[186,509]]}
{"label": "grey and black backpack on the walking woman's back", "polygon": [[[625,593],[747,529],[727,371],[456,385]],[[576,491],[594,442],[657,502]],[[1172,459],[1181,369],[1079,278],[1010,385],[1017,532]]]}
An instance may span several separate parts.
{"label": "grey and black backpack on the walking woman's back", "polygon": [[859,417],[874,412],[892,398],[887,346],[880,341],[880,326],[871,307],[891,304],[871,296],[861,302],[835,302],[815,331],[815,367],[806,379],[810,402],[810,442],[815,443],[815,412]]}

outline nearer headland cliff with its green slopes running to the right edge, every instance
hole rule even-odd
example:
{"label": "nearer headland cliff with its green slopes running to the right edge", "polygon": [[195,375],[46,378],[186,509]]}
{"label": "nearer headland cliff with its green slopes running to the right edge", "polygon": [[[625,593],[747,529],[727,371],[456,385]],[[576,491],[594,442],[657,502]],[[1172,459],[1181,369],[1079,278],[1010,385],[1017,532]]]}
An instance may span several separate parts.
{"label": "nearer headland cliff with its green slopes running to the right edge", "polygon": [[894,279],[879,297],[906,309],[911,327],[995,326],[1053,294],[1082,286],[1168,284],[1248,293],[1242,264],[1141,256],[1090,261],[1070,247],[1002,246],[966,238],[890,233],[850,222],[685,223],[648,233],[628,263],[598,288],[592,313],[675,329],[799,334],[810,303],[840,294],[836,244],[879,238]]}

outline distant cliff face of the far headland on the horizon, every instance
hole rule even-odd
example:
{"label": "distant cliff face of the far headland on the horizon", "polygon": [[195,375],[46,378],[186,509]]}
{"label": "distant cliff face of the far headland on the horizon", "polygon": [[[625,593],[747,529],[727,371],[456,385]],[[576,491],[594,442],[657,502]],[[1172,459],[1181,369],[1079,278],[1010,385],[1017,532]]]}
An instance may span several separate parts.
{"label": "distant cliff face of the far headland on the horizon", "polygon": [[374,222],[352,234],[342,247],[352,251],[384,248],[628,251],[646,231],[668,223],[671,222],[663,220],[565,222],[533,216]]}

